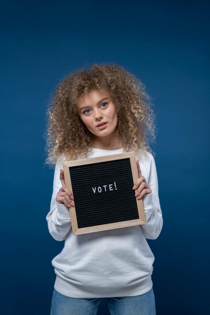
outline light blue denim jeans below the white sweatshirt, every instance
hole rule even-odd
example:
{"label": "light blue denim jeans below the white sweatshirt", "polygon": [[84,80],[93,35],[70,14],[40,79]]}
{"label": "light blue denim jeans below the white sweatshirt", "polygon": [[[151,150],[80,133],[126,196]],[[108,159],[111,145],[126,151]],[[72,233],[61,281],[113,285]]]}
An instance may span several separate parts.
{"label": "light blue denim jeans below the white sweatshirt", "polygon": [[[74,298],[54,289],[50,315],[96,315],[101,298]],[[108,297],[111,315],[156,315],[153,289],[142,295]]]}

